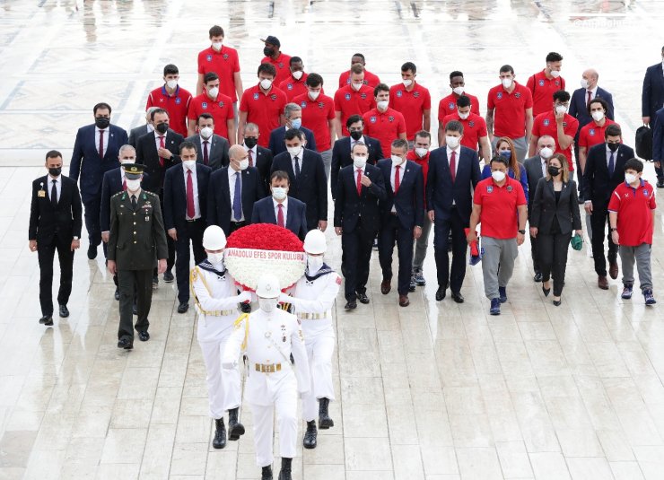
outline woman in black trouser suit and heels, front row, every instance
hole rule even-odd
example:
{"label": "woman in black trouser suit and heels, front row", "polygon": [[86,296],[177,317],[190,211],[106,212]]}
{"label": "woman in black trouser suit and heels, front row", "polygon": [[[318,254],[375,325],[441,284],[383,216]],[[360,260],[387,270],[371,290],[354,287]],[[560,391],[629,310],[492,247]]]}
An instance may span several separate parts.
{"label": "woman in black trouser suit and heels, front row", "polygon": [[546,163],[546,177],[537,182],[530,235],[537,238],[537,251],[542,268],[542,292],[551,292],[554,277],[554,305],[560,305],[565,281],[567,250],[572,231],[581,235],[581,215],[576,183],[570,179],[567,160],[556,153]]}

